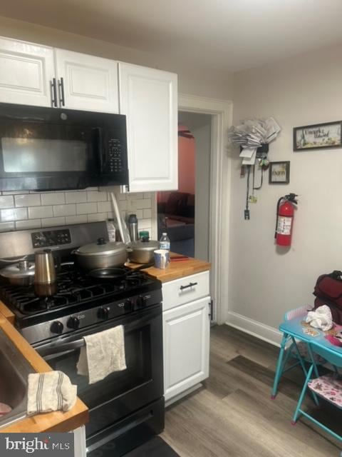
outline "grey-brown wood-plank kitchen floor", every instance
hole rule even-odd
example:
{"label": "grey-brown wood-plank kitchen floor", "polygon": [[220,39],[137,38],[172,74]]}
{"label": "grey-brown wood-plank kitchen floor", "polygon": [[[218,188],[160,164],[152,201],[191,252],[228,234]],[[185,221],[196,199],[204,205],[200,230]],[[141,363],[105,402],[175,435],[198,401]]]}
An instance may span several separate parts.
{"label": "grey-brown wood-plank kitchen floor", "polygon": [[[341,444],[301,417],[291,425],[303,385],[300,369],[282,378],[271,400],[278,348],[229,326],[212,328],[204,387],[167,409],[167,443],[181,457],[338,457]],[[305,408],[342,432],[342,414],[309,396]]]}

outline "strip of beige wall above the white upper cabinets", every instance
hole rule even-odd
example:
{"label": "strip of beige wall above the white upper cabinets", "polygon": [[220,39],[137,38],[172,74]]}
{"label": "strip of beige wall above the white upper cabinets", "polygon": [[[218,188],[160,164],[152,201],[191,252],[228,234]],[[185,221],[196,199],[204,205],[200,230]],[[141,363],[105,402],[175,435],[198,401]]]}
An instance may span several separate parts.
{"label": "strip of beige wall above the white upper cabinets", "polygon": [[[68,11],[66,11],[66,14],[68,14]],[[167,51],[157,53],[131,49],[108,41],[100,41],[87,36],[9,19],[4,16],[0,16],[0,36],[9,36],[10,38],[33,41],[131,64],[173,71],[178,74],[178,89],[182,94],[217,97],[218,99],[232,97],[232,74],[214,71],[214,69],[207,68],[204,65],[200,67],[194,66],[193,62],[171,59]]]}

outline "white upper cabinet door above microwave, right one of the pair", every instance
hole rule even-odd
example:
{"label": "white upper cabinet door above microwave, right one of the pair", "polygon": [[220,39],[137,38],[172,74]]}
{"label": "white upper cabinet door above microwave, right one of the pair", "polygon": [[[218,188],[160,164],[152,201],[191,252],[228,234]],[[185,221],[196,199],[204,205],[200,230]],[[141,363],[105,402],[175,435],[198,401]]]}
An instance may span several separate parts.
{"label": "white upper cabinet door above microwave, right one of the pair", "polygon": [[103,113],[119,112],[118,62],[63,49],[55,49],[55,54],[61,106]]}

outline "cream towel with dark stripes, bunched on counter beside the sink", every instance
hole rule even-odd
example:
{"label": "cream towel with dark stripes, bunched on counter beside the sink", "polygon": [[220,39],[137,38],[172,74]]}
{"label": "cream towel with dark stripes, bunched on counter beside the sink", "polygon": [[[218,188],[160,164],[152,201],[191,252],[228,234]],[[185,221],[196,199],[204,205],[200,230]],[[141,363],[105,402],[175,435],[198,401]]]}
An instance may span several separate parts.
{"label": "cream towel with dark stripes, bunched on counter beside the sink", "polygon": [[62,371],[28,375],[27,415],[69,411],[77,399],[77,386]]}

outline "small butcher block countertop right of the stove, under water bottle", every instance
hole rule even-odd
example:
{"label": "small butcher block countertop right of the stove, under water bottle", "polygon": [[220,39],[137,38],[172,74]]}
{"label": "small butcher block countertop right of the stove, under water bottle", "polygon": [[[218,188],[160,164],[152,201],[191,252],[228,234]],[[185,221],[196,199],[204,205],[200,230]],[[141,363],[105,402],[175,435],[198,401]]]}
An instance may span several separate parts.
{"label": "small butcher block countertop right of the stove, under water bottle", "polygon": [[[144,269],[144,271],[152,278],[159,279],[162,283],[166,283],[167,281],[173,281],[174,279],[184,278],[184,276],[201,273],[201,271],[208,271],[211,268],[211,264],[209,262],[192,257],[189,257],[187,260],[172,261],[172,258],[177,256],[180,256],[180,254],[171,253],[170,264],[163,270],[151,266],[150,268]],[[126,266],[129,266],[130,268],[137,268],[140,266],[140,263],[126,263]]]}

